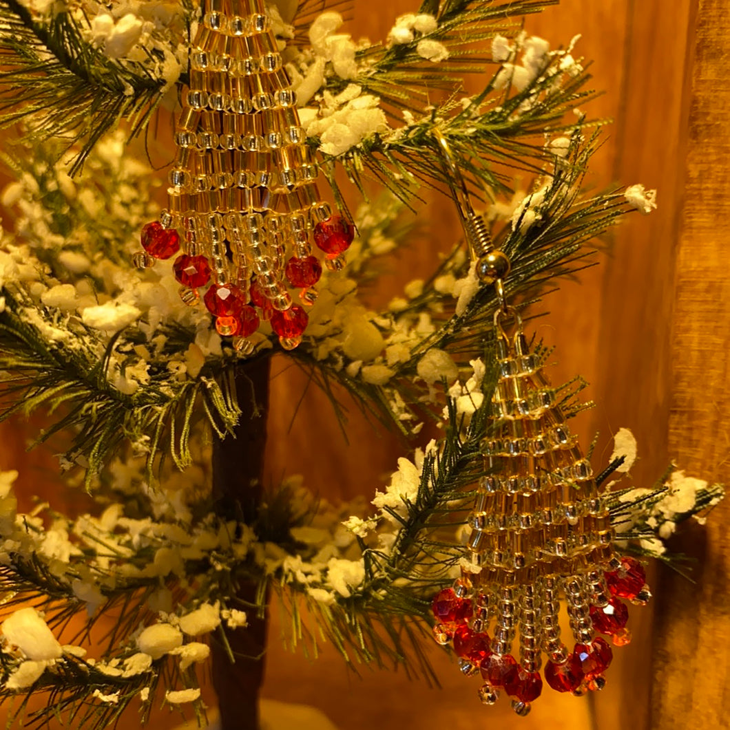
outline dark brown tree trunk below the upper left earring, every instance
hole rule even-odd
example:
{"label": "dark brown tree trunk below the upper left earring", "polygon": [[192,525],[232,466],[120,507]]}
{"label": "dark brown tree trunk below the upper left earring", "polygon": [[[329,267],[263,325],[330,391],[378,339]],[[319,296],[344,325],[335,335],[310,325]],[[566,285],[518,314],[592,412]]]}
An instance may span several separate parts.
{"label": "dark brown tree trunk below the upper left earring", "polygon": [[[263,495],[270,358],[237,367],[235,387],[240,419],[234,434],[213,442],[213,499],[221,518],[251,524]],[[259,689],[264,679],[267,617],[256,615],[256,584],[240,583],[236,595],[248,626],[228,631],[235,662],[218,642],[212,646],[213,687],[221,730],[259,730]]]}

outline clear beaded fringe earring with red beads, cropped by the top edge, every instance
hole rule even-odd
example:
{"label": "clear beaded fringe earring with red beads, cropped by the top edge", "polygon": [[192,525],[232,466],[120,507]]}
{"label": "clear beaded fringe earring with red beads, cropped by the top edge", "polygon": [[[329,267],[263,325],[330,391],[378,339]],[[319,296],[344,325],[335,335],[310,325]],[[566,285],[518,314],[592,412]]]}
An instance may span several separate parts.
{"label": "clear beaded fringe earring with red beads, cropped by the top edge", "polygon": [[246,337],[259,319],[296,347],[308,316],[292,288],[312,304],[322,273],[311,242],[338,269],[354,231],[320,199],[262,0],[206,0],[182,101],[168,207],[142,231],[137,264],[170,258],[181,244],[175,276],[186,304],[208,287],[205,306],[237,349],[251,350]]}

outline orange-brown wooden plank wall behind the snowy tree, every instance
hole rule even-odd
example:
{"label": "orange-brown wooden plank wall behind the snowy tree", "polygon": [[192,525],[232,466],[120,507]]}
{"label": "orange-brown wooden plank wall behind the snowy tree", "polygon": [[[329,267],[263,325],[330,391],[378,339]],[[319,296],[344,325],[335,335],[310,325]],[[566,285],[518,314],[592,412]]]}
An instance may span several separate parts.
{"label": "orange-brown wooden plank wall behind the snowy tree", "polygon": [[[414,0],[356,0],[351,31],[384,37],[392,18],[415,5]],[[650,218],[631,216],[601,266],[546,299],[552,313],[540,324],[540,334],[558,348],[554,380],[579,373],[592,383],[588,397],[598,407],[584,416],[581,432],[587,444],[601,431],[597,463],[610,453],[610,435],[628,426],[642,457],[634,469],[636,485],[650,485],[670,459],[695,475],[727,480],[723,418],[730,291],[722,231],[729,206],[730,106],[721,62],[730,39],[730,0],[564,0],[528,18],[526,28],[553,46],[581,33],[577,53],[593,59],[595,88],[606,90],[591,112],[615,123],[606,130],[590,183],[642,182],[659,190],[657,212]],[[425,234],[395,266],[388,284],[392,293],[414,269],[428,270],[444,237],[450,241],[449,215],[438,200],[419,211]],[[278,369],[270,417],[271,478],[303,473],[330,499],[371,495],[394,468],[400,447],[376,434],[355,411],[346,444],[327,401],[311,388],[299,406],[305,378],[285,361]],[[31,469],[21,451],[16,438],[12,449],[4,450],[1,466]],[[34,482],[26,477],[24,485],[31,489]],[[482,722],[502,730],[727,726],[722,713],[730,626],[723,576],[729,548],[721,523],[726,511],[716,510],[708,526],[691,530],[681,545],[706,561],[696,570],[699,583],[667,572],[657,577],[655,604],[661,610],[654,630],[652,609],[632,611],[634,643],[615,652],[615,667],[600,696],[576,699],[546,691],[531,715],[520,719],[506,702],[482,707],[478,682],[461,677],[436,648],[430,657],[441,689],[408,682],[402,671],[364,668],[360,680],[327,648],[316,663],[287,653],[278,642],[276,618],[265,696],[321,707],[342,730],[472,730]],[[134,727],[134,718],[128,723]],[[174,724],[173,716],[159,719],[161,729]]]}

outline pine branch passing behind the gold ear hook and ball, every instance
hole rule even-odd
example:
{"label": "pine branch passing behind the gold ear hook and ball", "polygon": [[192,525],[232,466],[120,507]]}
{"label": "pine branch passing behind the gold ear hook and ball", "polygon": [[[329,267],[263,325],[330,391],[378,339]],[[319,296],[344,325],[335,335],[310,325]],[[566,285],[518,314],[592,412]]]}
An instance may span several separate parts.
{"label": "pine branch passing behind the gold ear hook and ball", "polygon": [[[521,302],[520,310],[533,304],[533,298],[547,290],[556,278],[565,277],[590,265],[590,256],[600,245],[596,242],[628,212],[629,207],[618,191],[596,196],[582,197],[582,180],[591,155],[598,149],[598,137],[594,135],[582,142],[582,132],[575,131],[568,155],[555,165],[552,173],[544,172],[542,185],[528,196],[520,213],[512,223],[495,226],[495,247],[503,250],[512,261],[512,271],[505,282],[506,292],[512,301]],[[531,207],[531,201],[536,207]],[[539,202],[537,202],[539,201]],[[519,215],[518,215],[519,214]],[[527,216],[531,223],[526,223]],[[457,252],[458,253],[458,252]],[[365,270],[357,275],[363,276]],[[449,293],[439,291],[438,282],[444,275],[468,280],[468,261],[463,253],[442,261],[433,275],[423,284],[418,296],[410,299],[397,312],[400,324],[393,335],[395,342],[403,342],[403,323],[411,321],[414,332],[408,337],[410,356],[389,366],[387,383],[369,383],[362,377],[349,374],[343,361],[349,358],[341,350],[334,350],[327,359],[317,359],[316,350],[308,343],[300,346],[292,356],[307,369],[319,369],[318,382],[337,380],[356,402],[369,412],[374,412],[382,423],[407,434],[408,423],[415,425],[427,412],[411,407],[411,420],[402,420],[402,411],[396,411],[391,403],[397,395],[399,402],[413,406],[428,399],[429,388],[420,378],[418,364],[432,348],[446,350],[461,369],[468,362],[482,356],[484,343],[493,336],[493,315],[498,307],[493,288],[479,286],[474,280],[475,293],[468,304],[457,313],[457,300]],[[433,332],[417,334],[419,317],[427,315],[433,323]],[[396,317],[389,311],[379,312],[371,318],[373,326],[379,326],[388,346]],[[388,327],[382,323],[389,322]],[[407,330],[406,330],[407,331]],[[336,336],[332,332],[332,336]],[[374,409],[374,410],[373,410]]]}

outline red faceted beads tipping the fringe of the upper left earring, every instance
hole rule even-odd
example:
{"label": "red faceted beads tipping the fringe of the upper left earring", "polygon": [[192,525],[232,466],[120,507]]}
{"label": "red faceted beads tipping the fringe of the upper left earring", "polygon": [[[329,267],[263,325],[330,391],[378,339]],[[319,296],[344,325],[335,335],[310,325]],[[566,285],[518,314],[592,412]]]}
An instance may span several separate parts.
{"label": "red faceted beads tipping the fringe of the upper left earring", "polygon": [[[341,258],[354,239],[354,226],[341,215],[330,215],[314,226],[312,236],[328,260]],[[135,259],[138,266],[151,266],[156,259],[171,258],[180,250],[180,235],[174,228],[164,228],[158,221],[142,228],[145,253]],[[332,266],[338,268],[338,266]],[[180,296],[188,304],[199,301],[198,289],[208,286],[203,302],[216,318],[216,330],[224,337],[246,338],[259,328],[261,320],[270,322],[284,347],[296,347],[308,324],[308,314],[298,304],[276,309],[262,283],[255,276],[246,291],[234,283],[210,283],[211,262],[205,255],[181,253],[172,266],[175,279],[182,285]],[[314,285],[322,277],[322,264],[311,254],[286,261],[284,276],[292,288],[299,288],[303,304],[316,300]]]}

